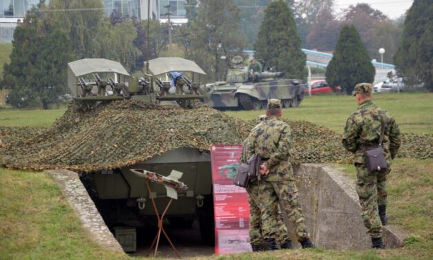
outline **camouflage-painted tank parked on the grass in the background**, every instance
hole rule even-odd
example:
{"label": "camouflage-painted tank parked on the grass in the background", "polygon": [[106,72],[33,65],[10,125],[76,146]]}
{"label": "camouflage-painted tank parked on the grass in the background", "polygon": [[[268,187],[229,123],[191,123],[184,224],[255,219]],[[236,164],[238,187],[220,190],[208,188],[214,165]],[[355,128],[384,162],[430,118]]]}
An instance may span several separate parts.
{"label": "camouflage-painted tank parked on the grass in the background", "polygon": [[234,57],[226,81],[206,86],[206,104],[215,109],[260,110],[271,98],[280,99],[283,107],[302,102],[307,85],[301,80],[282,78],[282,73],[271,69],[252,73],[242,62],[242,57]]}

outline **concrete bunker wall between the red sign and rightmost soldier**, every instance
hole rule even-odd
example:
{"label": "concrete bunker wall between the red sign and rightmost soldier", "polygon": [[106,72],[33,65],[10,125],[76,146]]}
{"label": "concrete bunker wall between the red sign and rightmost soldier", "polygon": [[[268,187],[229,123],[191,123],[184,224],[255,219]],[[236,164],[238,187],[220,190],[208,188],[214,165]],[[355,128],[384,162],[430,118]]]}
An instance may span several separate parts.
{"label": "concrete bunker wall between the red sign and rightmost soldier", "polygon": [[[344,176],[337,165],[305,164],[294,168],[300,205],[314,243],[329,249],[361,250],[371,239],[361,219],[355,180]],[[296,241],[289,223],[292,241]],[[403,234],[384,227],[387,248],[403,246]]]}

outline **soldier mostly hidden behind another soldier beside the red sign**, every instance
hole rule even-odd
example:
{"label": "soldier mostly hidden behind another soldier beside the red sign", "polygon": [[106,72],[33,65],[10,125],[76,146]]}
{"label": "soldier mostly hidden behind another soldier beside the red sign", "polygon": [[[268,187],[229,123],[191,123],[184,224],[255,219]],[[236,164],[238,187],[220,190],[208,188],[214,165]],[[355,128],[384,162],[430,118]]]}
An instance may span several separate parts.
{"label": "soldier mostly hidden behind another soldier beside the red sign", "polygon": [[[259,115],[258,121],[262,121],[264,115]],[[248,138],[244,140],[242,143],[242,155],[240,157],[239,163],[247,163],[247,141]],[[251,248],[253,252],[258,252],[262,250],[263,244],[263,236],[262,236],[262,219],[260,212],[260,201],[258,199],[259,194],[259,182],[257,178],[249,180],[249,184],[247,187],[248,193],[248,203],[249,203],[249,241],[251,243]],[[278,205],[277,205],[278,206]],[[289,238],[289,234],[287,234],[287,228],[282,218],[282,214],[280,209],[278,208],[278,216],[276,219],[277,231],[276,237],[280,248],[287,248],[287,239]]]}

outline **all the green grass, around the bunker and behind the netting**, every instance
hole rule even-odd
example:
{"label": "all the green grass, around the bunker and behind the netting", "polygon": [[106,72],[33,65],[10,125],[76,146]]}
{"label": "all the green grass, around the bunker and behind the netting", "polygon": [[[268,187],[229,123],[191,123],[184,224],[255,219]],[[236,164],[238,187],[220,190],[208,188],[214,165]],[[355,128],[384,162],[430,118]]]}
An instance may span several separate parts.
{"label": "all the green grass, around the bunker and behind the netting", "polygon": [[[433,95],[389,93],[374,95],[390,111],[402,131],[433,133]],[[322,124],[341,133],[347,116],[356,109],[354,97],[305,97],[285,117]],[[0,110],[0,126],[50,127],[65,109]],[[229,111],[253,119],[264,111]],[[1,136],[0,136],[1,139]],[[354,178],[352,165],[343,165]],[[433,259],[433,159],[398,158],[389,175],[389,223],[408,236],[404,248],[388,250],[278,250],[254,254],[194,259]],[[43,172],[0,168],[0,259],[132,259],[100,248],[79,225],[54,180]]]}

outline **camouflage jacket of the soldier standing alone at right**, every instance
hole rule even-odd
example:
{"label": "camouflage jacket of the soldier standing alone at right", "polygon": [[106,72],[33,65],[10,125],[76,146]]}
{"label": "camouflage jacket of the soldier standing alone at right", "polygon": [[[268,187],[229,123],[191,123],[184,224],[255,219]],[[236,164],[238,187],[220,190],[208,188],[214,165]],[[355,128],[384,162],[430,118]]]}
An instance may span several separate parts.
{"label": "camouflage jacket of the soldier standing alone at right", "polygon": [[381,138],[382,116],[385,117],[386,123],[383,150],[388,166],[396,156],[401,144],[400,130],[396,121],[387,111],[378,108],[371,100],[367,100],[349,116],[343,135],[343,146],[355,154],[354,163],[365,163],[365,149],[378,145]]}

